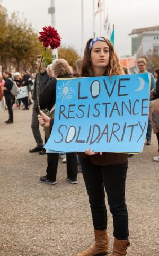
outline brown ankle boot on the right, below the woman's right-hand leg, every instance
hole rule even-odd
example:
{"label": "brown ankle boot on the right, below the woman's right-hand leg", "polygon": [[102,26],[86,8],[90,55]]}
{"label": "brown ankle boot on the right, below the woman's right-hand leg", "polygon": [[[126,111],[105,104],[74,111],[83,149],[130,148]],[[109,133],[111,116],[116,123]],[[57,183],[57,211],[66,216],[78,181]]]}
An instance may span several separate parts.
{"label": "brown ankle boot on the right, below the woman's right-hand leg", "polygon": [[127,254],[127,248],[130,246],[128,240],[114,239],[113,253],[111,256],[125,256]]}

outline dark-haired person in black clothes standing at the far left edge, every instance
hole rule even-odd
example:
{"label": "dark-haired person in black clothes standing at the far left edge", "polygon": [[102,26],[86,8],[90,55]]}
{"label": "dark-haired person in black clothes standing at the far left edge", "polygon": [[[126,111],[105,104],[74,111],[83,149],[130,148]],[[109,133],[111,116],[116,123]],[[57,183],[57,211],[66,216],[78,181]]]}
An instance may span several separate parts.
{"label": "dark-haired person in black clothes standing at the far left edge", "polygon": [[5,79],[5,84],[3,86],[3,95],[5,97],[5,102],[8,107],[8,112],[9,112],[9,119],[5,121],[5,123],[8,125],[10,123],[13,123],[13,109],[12,109],[12,100],[13,100],[13,95],[11,94],[11,89],[13,86],[13,81],[11,78],[11,73],[5,70],[3,72],[3,77]]}

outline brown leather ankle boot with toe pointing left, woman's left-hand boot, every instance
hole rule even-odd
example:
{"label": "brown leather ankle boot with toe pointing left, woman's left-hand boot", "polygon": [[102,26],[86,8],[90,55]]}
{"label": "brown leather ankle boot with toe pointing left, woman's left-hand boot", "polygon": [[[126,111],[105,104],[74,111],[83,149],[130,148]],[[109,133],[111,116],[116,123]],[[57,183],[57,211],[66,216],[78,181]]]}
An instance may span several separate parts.
{"label": "brown leather ankle boot with toe pointing left, woman's left-hand boot", "polygon": [[94,235],[95,244],[91,248],[81,252],[80,254],[77,254],[77,256],[97,256],[108,254],[107,230],[94,230]]}

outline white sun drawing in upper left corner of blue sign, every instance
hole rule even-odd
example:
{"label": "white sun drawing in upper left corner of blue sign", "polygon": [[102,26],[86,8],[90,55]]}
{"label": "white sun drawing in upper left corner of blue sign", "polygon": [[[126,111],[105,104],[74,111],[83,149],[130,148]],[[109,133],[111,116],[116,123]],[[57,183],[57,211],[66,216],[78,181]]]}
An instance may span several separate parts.
{"label": "white sun drawing in upper left corner of blue sign", "polygon": [[59,89],[59,93],[57,98],[61,98],[62,102],[64,100],[70,100],[72,99],[73,94],[75,93],[75,91],[73,90],[71,84],[69,84],[72,81],[68,81],[67,83],[63,82],[63,85],[61,85],[60,87],[58,87]]}

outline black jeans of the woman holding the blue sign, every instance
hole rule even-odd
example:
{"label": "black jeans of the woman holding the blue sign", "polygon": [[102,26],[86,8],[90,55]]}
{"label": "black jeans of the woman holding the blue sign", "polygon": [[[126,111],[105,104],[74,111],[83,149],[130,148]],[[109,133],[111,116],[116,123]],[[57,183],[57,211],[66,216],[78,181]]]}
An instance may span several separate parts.
{"label": "black jeans of the woman holding the blue sign", "polygon": [[113,216],[113,235],[116,239],[127,240],[129,230],[128,212],[125,204],[125,182],[128,163],[99,166],[94,165],[88,156],[86,158],[80,157],[80,162],[89,195],[94,229],[107,229],[106,191],[108,205]]}

